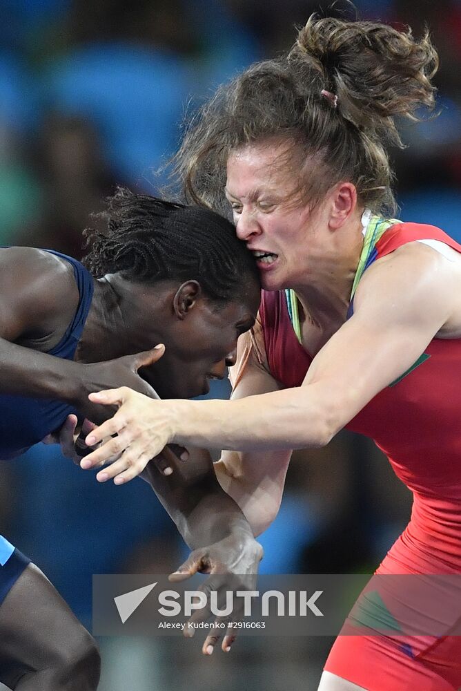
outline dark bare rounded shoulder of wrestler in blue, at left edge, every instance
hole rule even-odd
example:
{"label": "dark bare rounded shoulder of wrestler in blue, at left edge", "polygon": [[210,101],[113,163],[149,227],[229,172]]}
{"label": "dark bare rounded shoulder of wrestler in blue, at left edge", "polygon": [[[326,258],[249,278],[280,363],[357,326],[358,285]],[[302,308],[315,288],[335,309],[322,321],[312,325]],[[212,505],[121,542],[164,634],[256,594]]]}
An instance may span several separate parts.
{"label": "dark bare rounded shoulder of wrestler in blue, at left edge", "polygon": [[72,265],[33,247],[0,249],[0,336],[41,337],[68,323],[79,302]]}

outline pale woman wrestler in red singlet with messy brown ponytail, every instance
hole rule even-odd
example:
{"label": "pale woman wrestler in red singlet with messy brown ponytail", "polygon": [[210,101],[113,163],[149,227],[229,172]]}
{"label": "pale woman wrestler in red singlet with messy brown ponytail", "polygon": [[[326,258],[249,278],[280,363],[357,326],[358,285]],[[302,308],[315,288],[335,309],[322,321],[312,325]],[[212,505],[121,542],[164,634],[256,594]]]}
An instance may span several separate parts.
{"label": "pale woman wrestler in red singlet with messy brown ponytail", "polygon": [[[101,480],[130,480],[168,442],[220,444],[230,451],[219,480],[255,531],[277,513],[292,448],[322,446],[348,426],[388,455],[414,504],[379,574],[433,587],[427,602],[439,611],[413,594],[408,612],[395,610],[395,593],[378,592],[381,608],[364,594],[322,691],[461,686],[461,637],[449,635],[461,598],[455,589],[442,607],[446,593],[426,576],[461,573],[461,247],[433,227],[384,220],[393,202],[385,144],[400,141],[396,116],[433,104],[436,67],[427,36],[311,17],[290,53],[218,91],[178,161],[195,200],[224,209],[225,185],[264,288],[259,330],[239,341],[233,399],[92,395],[121,407],[88,444],[119,437],[86,464],[126,449]],[[373,635],[387,612],[399,635]]]}

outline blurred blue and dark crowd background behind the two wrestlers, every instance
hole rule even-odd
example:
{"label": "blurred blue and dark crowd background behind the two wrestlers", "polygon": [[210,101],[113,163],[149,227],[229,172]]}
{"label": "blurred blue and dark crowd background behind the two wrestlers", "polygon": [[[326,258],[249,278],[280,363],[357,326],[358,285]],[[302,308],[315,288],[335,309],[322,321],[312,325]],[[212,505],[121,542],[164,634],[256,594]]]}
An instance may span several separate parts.
{"label": "blurred blue and dark crowd background behind the two wrestlers", "polygon": [[[115,185],[155,193],[184,118],[217,84],[293,43],[302,0],[0,0],[0,244],[80,258],[82,230]],[[357,13],[440,51],[437,119],[404,127],[391,151],[403,220],[460,240],[461,0],[355,0]],[[342,15],[344,16],[344,14]],[[226,387],[212,395],[225,397]],[[90,627],[91,577],[164,574],[188,550],[141,480],[100,486],[37,446],[0,466],[0,531],[48,574]],[[409,493],[373,444],[343,433],[296,453],[262,536],[264,573],[372,572],[409,517]],[[331,640],[242,638],[203,659],[202,641],[102,639],[102,691],[317,688]]]}

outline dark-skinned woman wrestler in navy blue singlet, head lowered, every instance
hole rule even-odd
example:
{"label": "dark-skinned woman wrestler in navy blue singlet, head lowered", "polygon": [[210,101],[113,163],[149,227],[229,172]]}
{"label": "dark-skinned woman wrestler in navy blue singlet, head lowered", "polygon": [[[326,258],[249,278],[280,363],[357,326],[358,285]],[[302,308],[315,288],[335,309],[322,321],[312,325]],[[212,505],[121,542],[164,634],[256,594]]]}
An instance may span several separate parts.
{"label": "dark-skinned woman wrestler in navy blue singlet, head lowered", "polygon": [[[203,394],[208,379],[222,378],[233,362],[238,334],[254,323],[257,269],[228,221],[127,190],[110,200],[107,216],[110,231],[93,234],[86,266],[57,252],[0,249],[0,458],[63,424],[75,426],[75,416],[102,422],[110,411],[88,401],[101,388]],[[204,477],[257,555],[209,459]],[[155,470],[146,479],[168,508],[177,480]],[[186,515],[187,494],[179,501]],[[204,535],[198,522],[187,526],[194,548],[233,533],[218,520]],[[0,681],[21,691],[90,691],[99,681],[95,641],[41,571],[1,537]]]}

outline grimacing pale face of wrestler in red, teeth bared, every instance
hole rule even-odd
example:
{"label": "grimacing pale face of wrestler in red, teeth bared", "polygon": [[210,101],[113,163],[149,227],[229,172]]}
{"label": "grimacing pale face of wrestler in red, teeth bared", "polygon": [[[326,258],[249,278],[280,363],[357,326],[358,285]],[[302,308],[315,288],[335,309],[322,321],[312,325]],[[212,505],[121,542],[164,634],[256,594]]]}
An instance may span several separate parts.
{"label": "grimacing pale face of wrestler in red, teeth bared", "polygon": [[226,197],[237,236],[253,252],[265,290],[303,285],[325,252],[322,205],[295,202],[299,179],[284,167],[286,150],[286,142],[251,144],[233,151],[227,163]]}

